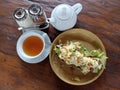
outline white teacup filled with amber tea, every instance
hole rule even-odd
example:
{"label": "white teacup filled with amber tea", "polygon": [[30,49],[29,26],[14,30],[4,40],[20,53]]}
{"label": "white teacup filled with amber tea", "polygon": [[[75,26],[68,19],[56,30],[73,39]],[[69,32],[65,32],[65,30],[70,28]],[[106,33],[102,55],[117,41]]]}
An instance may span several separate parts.
{"label": "white teacup filled with amber tea", "polygon": [[[37,44],[39,44],[39,46]],[[17,53],[22,59],[34,60],[43,53],[44,49],[44,34],[40,35],[36,32],[25,32],[17,42]]]}

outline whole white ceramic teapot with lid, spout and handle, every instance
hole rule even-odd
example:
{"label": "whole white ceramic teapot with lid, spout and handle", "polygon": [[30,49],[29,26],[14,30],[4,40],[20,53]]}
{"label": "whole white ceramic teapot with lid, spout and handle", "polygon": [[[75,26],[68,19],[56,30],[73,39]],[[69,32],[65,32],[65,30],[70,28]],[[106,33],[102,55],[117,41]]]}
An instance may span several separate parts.
{"label": "whole white ceramic teapot with lid, spout and handle", "polygon": [[77,22],[77,15],[82,10],[82,5],[77,3],[73,6],[60,4],[56,6],[49,18],[50,24],[59,31],[64,31],[74,27]]}

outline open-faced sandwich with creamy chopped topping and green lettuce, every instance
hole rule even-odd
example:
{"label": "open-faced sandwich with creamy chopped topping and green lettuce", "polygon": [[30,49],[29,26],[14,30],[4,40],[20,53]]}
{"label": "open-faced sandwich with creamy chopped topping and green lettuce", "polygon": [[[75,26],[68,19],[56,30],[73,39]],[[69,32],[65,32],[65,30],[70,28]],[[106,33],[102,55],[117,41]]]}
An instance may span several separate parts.
{"label": "open-faced sandwich with creamy chopped topping and green lettuce", "polygon": [[78,41],[67,41],[55,45],[54,51],[67,65],[81,69],[83,74],[97,73],[105,68],[106,55],[100,50],[88,50]]}

